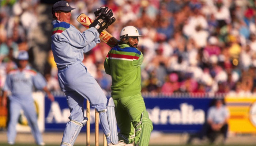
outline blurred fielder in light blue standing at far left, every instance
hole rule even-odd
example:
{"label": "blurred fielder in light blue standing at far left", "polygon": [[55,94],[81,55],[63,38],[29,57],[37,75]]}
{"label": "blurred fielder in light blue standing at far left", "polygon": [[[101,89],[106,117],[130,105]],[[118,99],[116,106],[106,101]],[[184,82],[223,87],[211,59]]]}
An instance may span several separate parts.
{"label": "blurred fielder in light blue standing at far left", "polygon": [[18,69],[11,70],[5,81],[3,93],[3,105],[6,106],[7,91],[11,91],[10,99],[10,122],[8,124],[8,143],[13,145],[16,137],[16,124],[20,115],[20,110],[24,111],[31,132],[38,145],[45,145],[42,135],[37,125],[37,114],[32,97],[33,87],[44,90],[48,98],[54,101],[53,95],[46,87],[46,80],[34,70],[27,66],[29,55],[26,51],[20,51],[18,55]]}

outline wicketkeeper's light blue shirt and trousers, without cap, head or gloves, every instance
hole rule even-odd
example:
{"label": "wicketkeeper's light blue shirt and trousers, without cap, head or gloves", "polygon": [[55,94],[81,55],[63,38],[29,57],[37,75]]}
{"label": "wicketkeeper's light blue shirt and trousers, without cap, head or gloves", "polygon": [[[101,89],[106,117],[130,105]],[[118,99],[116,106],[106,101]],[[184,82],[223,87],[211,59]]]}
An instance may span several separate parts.
{"label": "wicketkeeper's light blue shirt and trousers, without cap, head or gloves", "polygon": [[[82,127],[72,123],[72,120],[82,122],[84,118],[84,99],[89,100],[92,107],[98,111],[106,109],[107,98],[96,80],[83,65],[83,53],[90,51],[99,40],[96,28],[91,27],[80,32],[71,24],[54,20],[52,31],[52,52],[58,68],[59,84],[65,92],[69,110],[69,121],[65,128],[62,144],[74,145],[75,133]],[[101,126],[107,141],[110,143],[108,117],[106,112],[99,114]],[[79,129],[79,130],[76,130]],[[65,145],[64,145],[64,144]]]}

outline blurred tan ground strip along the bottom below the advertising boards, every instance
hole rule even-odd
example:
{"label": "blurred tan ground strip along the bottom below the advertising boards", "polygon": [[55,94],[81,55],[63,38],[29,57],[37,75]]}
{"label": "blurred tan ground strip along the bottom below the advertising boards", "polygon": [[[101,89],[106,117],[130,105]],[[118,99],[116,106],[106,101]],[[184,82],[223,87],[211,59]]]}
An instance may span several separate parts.
{"label": "blurred tan ground strip along the bottom below the advertising boards", "polygon": [[[43,132],[42,133],[46,146],[59,146],[63,133],[62,132]],[[91,146],[94,146],[94,133],[91,133]],[[149,146],[221,146],[221,144],[209,145],[206,141],[194,139],[193,145],[185,145],[188,140],[188,134],[170,134],[153,132],[150,138]],[[29,133],[18,132],[13,146],[37,146],[34,142],[33,135]],[[99,144],[102,146],[103,133],[99,134]],[[256,135],[230,135],[225,142],[225,146],[256,146]],[[7,143],[6,131],[0,131],[0,146],[10,146]],[[74,146],[86,146],[86,133],[82,132],[76,139]],[[223,145],[224,146],[224,145]]]}

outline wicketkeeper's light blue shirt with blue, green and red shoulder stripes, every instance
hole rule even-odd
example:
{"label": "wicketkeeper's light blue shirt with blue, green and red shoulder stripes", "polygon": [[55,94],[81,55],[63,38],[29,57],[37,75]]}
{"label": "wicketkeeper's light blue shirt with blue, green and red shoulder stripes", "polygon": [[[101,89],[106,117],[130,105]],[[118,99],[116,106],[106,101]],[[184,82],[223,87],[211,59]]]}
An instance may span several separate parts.
{"label": "wicketkeeper's light blue shirt with blue, green and red shoulder stripes", "polygon": [[93,49],[99,40],[96,28],[80,32],[73,25],[54,20],[52,31],[52,52],[59,70],[83,61],[83,53]]}

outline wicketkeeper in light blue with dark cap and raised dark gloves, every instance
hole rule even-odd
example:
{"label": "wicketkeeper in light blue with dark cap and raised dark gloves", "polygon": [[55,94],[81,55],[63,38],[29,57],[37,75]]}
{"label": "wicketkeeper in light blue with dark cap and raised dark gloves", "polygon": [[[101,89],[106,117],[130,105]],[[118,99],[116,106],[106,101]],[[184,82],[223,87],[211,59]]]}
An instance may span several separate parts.
{"label": "wicketkeeper in light blue with dark cap and raised dark gloves", "polygon": [[[101,87],[83,65],[83,53],[90,51],[100,42],[99,34],[115,21],[112,10],[102,7],[99,15],[84,32],[80,32],[70,23],[71,8],[67,1],[58,1],[52,7],[52,51],[58,68],[59,84],[65,92],[71,112],[65,128],[61,146],[73,146],[81,128],[86,124],[84,117],[84,99],[99,112],[100,122],[109,146],[125,145],[118,142],[113,100],[108,101]],[[96,15],[96,14],[95,14]],[[111,18],[112,17],[112,18]]]}

